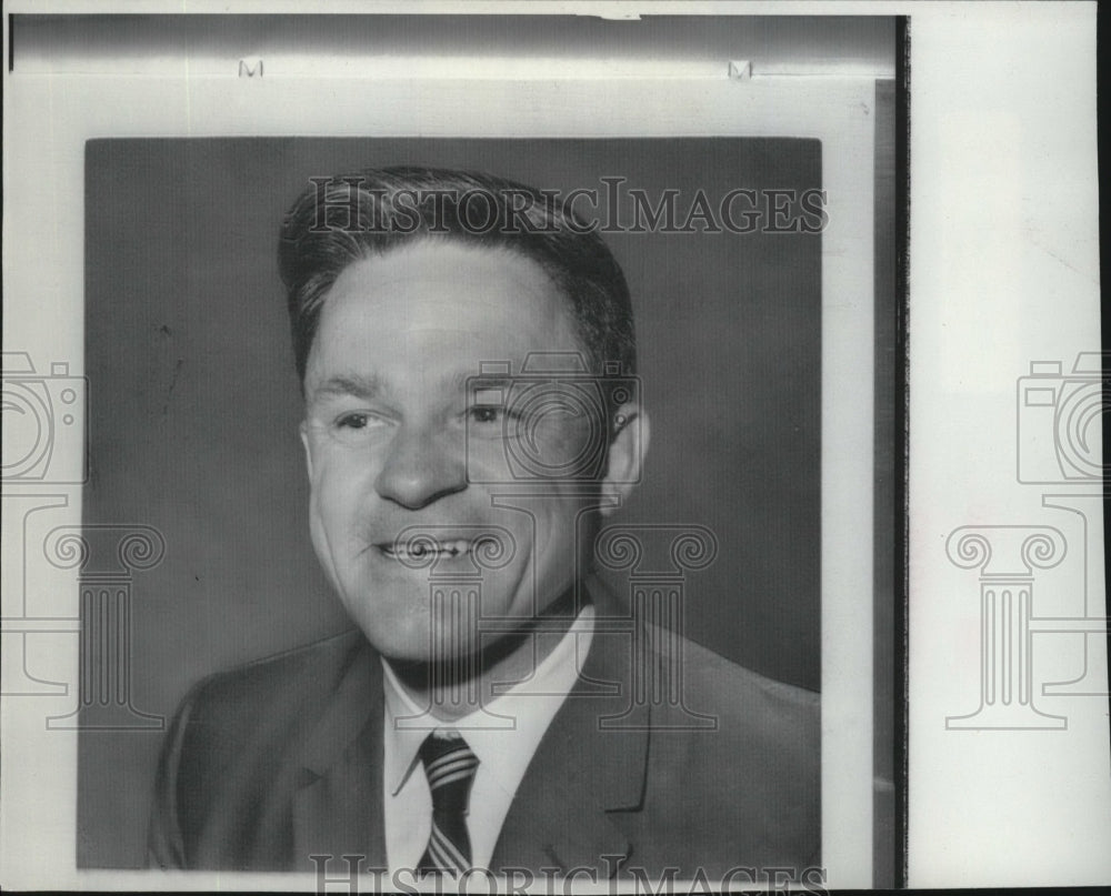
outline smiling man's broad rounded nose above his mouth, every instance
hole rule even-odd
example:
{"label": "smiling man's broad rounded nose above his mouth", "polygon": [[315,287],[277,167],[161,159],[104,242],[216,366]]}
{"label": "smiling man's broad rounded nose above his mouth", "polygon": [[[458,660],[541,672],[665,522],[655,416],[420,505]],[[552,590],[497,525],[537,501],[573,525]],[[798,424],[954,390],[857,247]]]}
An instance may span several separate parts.
{"label": "smiling man's broad rounded nose above his mouth", "polygon": [[410,510],[462,491],[467,487],[464,451],[453,441],[430,427],[403,424],[390,443],[374,489]]}

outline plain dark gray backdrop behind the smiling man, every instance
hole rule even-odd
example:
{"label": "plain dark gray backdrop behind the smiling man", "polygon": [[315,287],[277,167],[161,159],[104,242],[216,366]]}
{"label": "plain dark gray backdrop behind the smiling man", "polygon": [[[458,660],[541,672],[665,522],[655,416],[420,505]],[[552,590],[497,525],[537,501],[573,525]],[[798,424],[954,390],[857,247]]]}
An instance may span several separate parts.
{"label": "plain dark gray backdrop behind the smiling man", "polygon": [[[308,537],[300,397],[276,245],[308,178],[374,164],[541,188],[621,175],[653,198],[820,185],[817,141],[102,140],[87,148],[87,523],[144,524],[133,704],[347,625]],[[821,239],[608,235],[633,294],[653,420],[624,522],[698,523],[687,633],[764,674],[820,681]],[[861,595],[870,600],[870,595]],[[697,707],[695,707],[697,708]],[[78,864],[144,862],[157,733],[83,732]]]}

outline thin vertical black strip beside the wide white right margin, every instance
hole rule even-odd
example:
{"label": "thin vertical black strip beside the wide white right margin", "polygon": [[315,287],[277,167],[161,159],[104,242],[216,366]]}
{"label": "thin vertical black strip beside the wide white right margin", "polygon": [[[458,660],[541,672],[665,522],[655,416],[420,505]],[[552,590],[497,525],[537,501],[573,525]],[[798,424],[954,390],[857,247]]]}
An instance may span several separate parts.
{"label": "thin vertical black strip beside the wide white right margin", "polygon": [[910,446],[908,386],[909,292],[910,265],[910,17],[895,20],[895,328],[894,328],[894,466],[892,470],[892,531],[894,563],[892,593],[894,620],[891,632],[894,642],[892,668],[892,716],[895,769],[895,837],[894,886],[907,886],[907,766],[908,673],[907,673],[907,605],[910,594],[909,509],[907,486],[907,452]]}

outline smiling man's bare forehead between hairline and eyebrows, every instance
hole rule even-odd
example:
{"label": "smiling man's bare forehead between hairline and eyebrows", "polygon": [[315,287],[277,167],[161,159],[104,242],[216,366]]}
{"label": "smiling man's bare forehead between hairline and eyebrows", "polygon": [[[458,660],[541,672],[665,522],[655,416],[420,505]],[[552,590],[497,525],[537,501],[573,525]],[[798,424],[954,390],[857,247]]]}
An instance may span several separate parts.
{"label": "smiling man's bare forehead between hairline and eyebrows", "polygon": [[548,274],[514,253],[426,241],[348,265],[323,296],[306,386],[458,390],[492,363],[519,373],[534,354],[556,359],[550,371],[584,369],[571,303]]}

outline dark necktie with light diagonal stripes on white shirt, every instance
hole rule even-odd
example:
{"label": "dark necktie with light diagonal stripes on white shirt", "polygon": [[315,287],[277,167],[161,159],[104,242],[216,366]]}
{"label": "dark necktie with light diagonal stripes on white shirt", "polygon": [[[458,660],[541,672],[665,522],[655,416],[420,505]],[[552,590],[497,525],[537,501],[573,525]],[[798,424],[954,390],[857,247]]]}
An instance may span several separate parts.
{"label": "dark necktie with light diagonal stripes on white shirt", "polygon": [[467,802],[478,757],[457,733],[433,732],[421,744],[420,758],[432,792],[432,833],[418,870],[461,874],[471,867]]}

